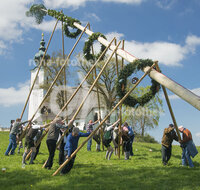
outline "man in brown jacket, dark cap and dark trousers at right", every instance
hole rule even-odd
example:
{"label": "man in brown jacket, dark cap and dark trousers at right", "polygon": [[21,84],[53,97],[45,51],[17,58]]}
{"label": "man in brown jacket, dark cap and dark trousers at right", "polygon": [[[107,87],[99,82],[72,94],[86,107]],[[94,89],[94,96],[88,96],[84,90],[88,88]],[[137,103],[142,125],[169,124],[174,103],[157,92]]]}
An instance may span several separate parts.
{"label": "man in brown jacket, dark cap and dark trousers at right", "polygon": [[162,137],[161,152],[163,165],[166,165],[171,158],[173,140],[178,141],[178,136],[174,130],[174,125],[169,124],[169,126],[164,129]]}

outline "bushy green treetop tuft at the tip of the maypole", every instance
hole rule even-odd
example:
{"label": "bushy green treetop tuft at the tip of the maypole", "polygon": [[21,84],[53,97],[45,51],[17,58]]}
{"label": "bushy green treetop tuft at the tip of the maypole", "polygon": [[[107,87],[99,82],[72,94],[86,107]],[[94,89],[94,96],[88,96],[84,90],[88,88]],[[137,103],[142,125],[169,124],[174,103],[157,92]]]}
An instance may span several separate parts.
{"label": "bushy green treetop tuft at the tip of the maypole", "polygon": [[26,12],[27,17],[35,17],[36,23],[40,24],[42,23],[44,16],[46,16],[46,12],[44,10],[47,10],[46,7],[43,4],[34,4],[31,6],[29,11]]}

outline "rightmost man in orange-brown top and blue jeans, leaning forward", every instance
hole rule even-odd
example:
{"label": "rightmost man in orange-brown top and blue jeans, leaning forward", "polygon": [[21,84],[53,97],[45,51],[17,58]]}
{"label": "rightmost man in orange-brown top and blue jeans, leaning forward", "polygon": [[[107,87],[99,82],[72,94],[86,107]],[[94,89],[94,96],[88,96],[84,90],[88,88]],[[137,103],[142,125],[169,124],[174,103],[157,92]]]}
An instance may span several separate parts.
{"label": "rightmost man in orange-brown top and blue jeans, leaning forward", "polygon": [[194,164],[190,156],[194,158],[198,154],[198,151],[192,140],[192,134],[183,126],[180,126],[178,129],[182,133],[182,140],[180,142],[182,147],[182,165],[187,166],[188,163],[189,167],[193,168]]}

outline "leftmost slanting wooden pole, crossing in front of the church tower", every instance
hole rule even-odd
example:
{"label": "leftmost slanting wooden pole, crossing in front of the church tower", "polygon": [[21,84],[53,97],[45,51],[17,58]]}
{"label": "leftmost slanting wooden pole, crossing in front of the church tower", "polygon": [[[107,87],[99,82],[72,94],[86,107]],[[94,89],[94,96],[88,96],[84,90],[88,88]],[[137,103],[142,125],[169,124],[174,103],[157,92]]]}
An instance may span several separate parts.
{"label": "leftmost slanting wooden pole, crossing in front of the church tower", "polygon": [[46,47],[46,49],[45,49],[44,55],[43,55],[43,57],[42,57],[42,59],[41,59],[41,61],[40,61],[40,64],[39,64],[39,66],[38,66],[37,73],[36,73],[36,75],[35,75],[33,84],[31,85],[31,89],[30,89],[29,94],[28,94],[28,97],[27,97],[27,99],[26,99],[26,103],[25,103],[24,108],[23,108],[23,110],[22,110],[20,119],[22,119],[22,117],[23,117],[23,115],[24,115],[24,112],[25,112],[25,110],[26,110],[26,106],[27,106],[27,104],[28,104],[29,98],[30,98],[31,93],[32,93],[32,91],[33,91],[33,87],[34,87],[34,85],[35,85],[35,83],[36,83],[36,80],[37,80],[39,71],[40,71],[40,69],[41,69],[42,63],[43,63],[43,61],[44,61],[44,58],[45,58],[46,53],[47,53],[47,50],[48,50],[49,45],[50,45],[50,43],[51,43],[51,39],[52,39],[52,37],[53,37],[53,34],[54,34],[55,30],[56,30],[57,24],[58,24],[58,20],[56,21],[56,24],[55,24],[55,26],[54,26],[54,28],[53,28],[53,31],[52,31],[52,33],[51,33],[51,36],[50,36],[50,38],[49,38],[49,42],[48,42],[47,47]]}

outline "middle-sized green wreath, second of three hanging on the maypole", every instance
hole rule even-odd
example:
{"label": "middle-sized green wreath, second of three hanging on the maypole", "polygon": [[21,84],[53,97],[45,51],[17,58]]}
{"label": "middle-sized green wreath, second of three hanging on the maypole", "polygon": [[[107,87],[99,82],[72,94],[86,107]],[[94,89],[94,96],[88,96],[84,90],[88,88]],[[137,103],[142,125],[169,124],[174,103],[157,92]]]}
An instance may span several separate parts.
{"label": "middle-sized green wreath, second of three hanging on the maypole", "polygon": [[[101,36],[103,37],[104,39],[106,39],[106,37],[101,34],[100,32],[96,32],[96,33],[93,33],[89,38],[88,38],[88,41],[85,42],[85,45],[83,47],[83,53],[85,55],[85,58],[89,61],[89,60],[93,60],[95,61],[96,59],[99,58],[99,56],[102,54],[102,52],[106,49],[106,46],[104,45],[101,45],[101,50],[100,52],[97,54],[97,55],[93,55],[90,53],[91,51],[91,48],[92,48],[92,45],[93,45],[93,42],[95,40],[98,39],[98,37]],[[103,60],[104,56],[101,58],[101,60]]]}

